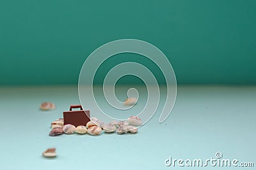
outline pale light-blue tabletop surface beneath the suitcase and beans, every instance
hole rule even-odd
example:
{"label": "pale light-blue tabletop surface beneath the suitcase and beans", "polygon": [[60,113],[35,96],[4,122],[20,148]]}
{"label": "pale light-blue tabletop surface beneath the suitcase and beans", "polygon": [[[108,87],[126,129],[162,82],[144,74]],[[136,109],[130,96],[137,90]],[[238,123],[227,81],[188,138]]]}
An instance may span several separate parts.
{"label": "pale light-blue tabletop surface beneath the suitcase and beans", "polygon": [[[79,104],[77,87],[1,87],[0,94],[0,169],[184,169],[164,160],[205,160],[216,152],[256,166],[256,87],[178,87],[163,124],[156,113],[138,134],[100,136],[48,136],[51,122]],[[56,110],[40,111],[43,101]],[[50,147],[58,156],[45,159]]]}

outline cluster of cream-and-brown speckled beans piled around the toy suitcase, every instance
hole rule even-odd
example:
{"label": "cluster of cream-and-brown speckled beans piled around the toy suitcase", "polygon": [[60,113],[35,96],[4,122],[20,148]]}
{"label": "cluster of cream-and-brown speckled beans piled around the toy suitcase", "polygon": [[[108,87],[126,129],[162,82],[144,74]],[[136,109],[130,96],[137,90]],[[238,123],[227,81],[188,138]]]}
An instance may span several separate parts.
{"label": "cluster of cream-and-brown speckled beans piled around the toy suitcase", "polygon": [[60,134],[90,134],[93,136],[99,135],[102,130],[107,133],[117,132],[118,134],[127,134],[128,132],[135,134],[138,132],[138,127],[142,125],[142,121],[137,116],[132,116],[127,118],[127,122],[114,120],[109,124],[105,124],[100,121],[98,118],[92,117],[91,121],[84,125],[79,125],[75,127],[74,125],[64,125],[63,118],[58,118],[54,122],[51,123],[51,132],[49,136],[57,136]]}

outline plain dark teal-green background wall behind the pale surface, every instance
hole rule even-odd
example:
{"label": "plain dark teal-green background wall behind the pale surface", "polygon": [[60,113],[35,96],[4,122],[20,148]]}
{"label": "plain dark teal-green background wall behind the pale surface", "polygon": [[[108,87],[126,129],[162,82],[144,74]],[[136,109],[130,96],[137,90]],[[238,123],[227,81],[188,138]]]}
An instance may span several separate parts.
{"label": "plain dark teal-green background wall behind the pale surface", "polygon": [[254,84],[255,9],[254,0],[0,1],[0,85],[77,83],[93,50],[123,38],[156,45],[179,84]]}

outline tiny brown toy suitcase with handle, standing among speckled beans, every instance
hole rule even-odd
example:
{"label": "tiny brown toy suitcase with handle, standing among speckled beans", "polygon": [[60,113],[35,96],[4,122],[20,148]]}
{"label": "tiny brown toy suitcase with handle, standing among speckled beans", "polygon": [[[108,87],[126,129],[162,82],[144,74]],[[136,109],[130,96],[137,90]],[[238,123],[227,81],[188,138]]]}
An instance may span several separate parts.
{"label": "tiny brown toy suitcase with handle, standing among speckled beans", "polygon": [[[72,110],[80,108],[80,110]],[[71,124],[74,126],[84,125],[90,121],[90,110],[83,110],[82,106],[71,105],[69,111],[63,111],[64,125]]]}

